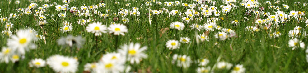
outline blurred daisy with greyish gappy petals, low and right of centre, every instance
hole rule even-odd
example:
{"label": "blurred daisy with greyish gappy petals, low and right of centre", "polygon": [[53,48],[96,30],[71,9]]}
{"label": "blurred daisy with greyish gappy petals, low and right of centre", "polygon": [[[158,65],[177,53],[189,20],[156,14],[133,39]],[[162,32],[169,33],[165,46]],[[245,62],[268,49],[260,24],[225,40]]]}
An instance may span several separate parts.
{"label": "blurred daisy with greyish gappy petals, low and right of centre", "polygon": [[176,65],[178,67],[187,68],[190,66],[190,63],[192,63],[191,59],[187,55],[173,55],[172,64],[177,63]]}

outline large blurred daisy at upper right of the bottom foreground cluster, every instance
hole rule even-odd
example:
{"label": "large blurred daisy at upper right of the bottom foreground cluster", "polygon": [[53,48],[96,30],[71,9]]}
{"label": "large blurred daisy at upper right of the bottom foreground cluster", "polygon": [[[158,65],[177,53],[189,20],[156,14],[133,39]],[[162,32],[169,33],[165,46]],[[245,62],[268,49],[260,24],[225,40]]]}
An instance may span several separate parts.
{"label": "large blurred daisy at upper right of the bottom foreground cluster", "polygon": [[147,54],[144,53],[145,50],[147,50],[147,46],[141,47],[140,43],[130,43],[121,46],[118,52],[122,56],[127,55],[127,60],[131,64],[139,64],[142,58],[147,58]]}

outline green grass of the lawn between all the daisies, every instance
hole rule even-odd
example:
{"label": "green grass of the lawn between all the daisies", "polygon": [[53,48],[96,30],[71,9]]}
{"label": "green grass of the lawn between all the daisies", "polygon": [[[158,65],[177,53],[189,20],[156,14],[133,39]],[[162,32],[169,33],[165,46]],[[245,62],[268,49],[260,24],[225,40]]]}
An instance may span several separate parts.
{"label": "green grass of the lawn between all the daisies", "polygon": [[[17,13],[15,9],[17,8],[26,8],[31,2],[28,0],[21,0],[20,4],[15,4],[16,0],[12,0],[12,3],[8,3],[6,0],[0,1],[1,8],[1,17],[9,17],[10,13]],[[247,73],[306,73],[308,72],[308,63],[306,60],[306,49],[295,49],[292,50],[292,47],[288,46],[288,41],[292,38],[289,37],[289,31],[294,29],[295,26],[300,26],[303,29],[303,32],[307,33],[307,26],[305,24],[306,15],[304,18],[298,22],[295,18],[290,18],[290,20],[286,24],[279,23],[277,28],[271,27],[271,30],[260,29],[258,32],[250,32],[246,31],[247,26],[256,26],[254,23],[254,18],[257,15],[248,16],[245,15],[245,11],[247,10],[244,6],[240,6],[240,0],[234,5],[238,6],[238,8],[232,8],[232,14],[220,16],[211,15],[210,17],[223,17],[224,20],[218,20],[217,25],[222,28],[229,28],[236,32],[237,37],[233,37],[224,41],[215,39],[214,34],[218,33],[220,30],[210,31],[209,32],[209,42],[200,42],[197,44],[195,32],[198,34],[202,34],[206,30],[202,30],[199,32],[198,30],[191,30],[190,25],[192,23],[197,23],[202,25],[207,23],[208,18],[203,18],[201,21],[193,20],[190,23],[185,23],[185,28],[183,30],[170,29],[169,25],[171,22],[179,21],[181,22],[181,18],[184,16],[172,16],[167,13],[162,13],[160,15],[151,15],[152,24],[149,24],[149,17],[147,13],[148,6],[141,6],[144,4],[145,0],[130,0],[130,1],[119,1],[119,4],[114,4],[114,0],[104,0],[105,7],[97,8],[96,10],[106,13],[106,9],[112,10],[112,12],[118,12],[119,8],[124,8],[130,10],[132,7],[138,7],[140,11],[139,17],[131,17],[127,16],[125,18],[129,18],[130,22],[125,23],[124,25],[128,28],[128,33],[125,33],[125,36],[118,36],[116,39],[116,35],[113,34],[103,34],[101,36],[94,36],[92,33],[88,33],[85,30],[86,26],[79,25],[77,23],[78,19],[95,19],[93,22],[102,22],[103,25],[109,26],[110,23],[123,23],[121,21],[122,17],[119,16],[110,16],[108,18],[102,18],[98,15],[92,16],[90,13],[89,17],[83,16],[75,16],[72,13],[67,12],[67,17],[65,19],[57,16],[59,12],[65,11],[57,11],[55,10],[55,6],[51,6],[46,8],[46,14],[52,14],[54,17],[46,16],[46,20],[48,24],[44,25],[44,30],[48,35],[46,36],[46,44],[44,40],[36,41],[35,44],[37,48],[34,50],[30,50],[26,52],[24,55],[24,59],[21,59],[16,63],[0,63],[0,73],[52,73],[54,72],[50,67],[29,67],[28,63],[31,59],[42,58],[46,59],[52,55],[65,55],[65,56],[73,56],[78,58],[78,73],[82,73],[84,69],[84,65],[86,63],[97,62],[102,55],[107,52],[116,51],[116,44],[123,45],[127,43],[141,43],[142,46],[147,46],[146,54],[148,58],[142,59],[140,64],[130,64],[126,63],[126,65],[132,66],[132,70],[130,72],[147,72],[147,69],[153,73],[194,73],[198,66],[197,63],[191,63],[191,66],[187,69],[177,67],[171,63],[172,56],[174,54],[178,55],[188,55],[191,57],[193,61],[206,58],[210,60],[207,66],[213,67],[214,64],[217,63],[217,59],[221,56],[220,61],[225,61],[232,63],[233,65],[242,64],[246,68]],[[167,7],[163,5],[163,2],[167,1],[175,1],[175,0],[159,0],[162,2],[161,5],[157,5],[152,3],[152,10],[160,10],[161,8],[166,8],[167,10],[179,10],[180,13],[186,11],[187,8],[183,6],[171,6]],[[179,0],[181,3],[192,4],[191,0]],[[268,0],[274,2],[274,0]],[[283,2],[285,1],[285,2]],[[58,5],[63,5],[62,1],[50,0],[49,2],[38,1],[35,2],[38,6],[42,4],[51,4],[58,3]],[[98,0],[75,0],[71,1],[69,7],[76,6],[80,9],[80,7],[85,4],[85,6],[96,5],[100,1]],[[280,11],[288,14],[291,10],[295,11],[307,11],[307,7],[303,6],[306,0],[298,0],[301,2],[299,4],[294,4],[293,0],[281,0],[278,4],[274,4],[274,6],[280,6]],[[126,3],[131,3],[130,6],[125,6]],[[268,4],[265,3],[265,0],[259,0],[260,6],[265,8],[265,12],[270,12],[271,14],[275,14],[277,9],[268,9]],[[207,3],[208,4],[208,3]],[[282,8],[282,4],[289,5],[289,9]],[[218,10],[221,10],[220,5],[226,5],[222,1],[217,0],[216,7]],[[212,4],[208,4],[208,6],[212,6]],[[255,10],[258,8],[254,8]],[[37,9],[35,9],[37,10]],[[113,14],[113,13],[111,13]],[[249,18],[249,21],[243,20],[243,17],[246,16]],[[114,17],[118,17],[120,20],[113,21]],[[37,18],[37,17],[36,17]],[[52,20],[52,18],[54,20]],[[138,18],[138,22],[134,22]],[[263,15],[260,15],[260,18],[263,19]],[[238,25],[232,24],[231,21],[238,20],[240,23]],[[57,26],[62,27],[62,22],[68,21],[72,23],[73,30],[62,33],[58,30]],[[35,21],[34,15],[26,15],[24,14],[21,17],[10,19],[10,22],[14,24],[14,28],[11,29],[13,35],[18,29],[26,28],[29,26],[36,31],[38,34],[43,35],[40,26],[35,26],[37,21]],[[88,22],[87,24],[92,23]],[[164,34],[160,36],[160,30],[163,28],[169,28]],[[1,23],[0,30],[5,30],[4,24]],[[277,38],[270,38],[269,34],[279,31],[282,33],[281,36]],[[70,52],[69,47],[58,46],[57,39],[61,36],[67,35],[81,35],[86,41],[83,44],[83,47],[77,50],[77,48],[73,48],[74,52]],[[307,45],[306,35],[300,36],[298,39],[302,40]],[[166,42],[170,39],[180,40],[180,37],[189,37],[191,39],[189,44],[181,44],[179,49],[169,50],[166,48]],[[0,35],[0,47],[5,47],[7,43],[7,39],[9,37],[6,35]],[[118,40],[118,43],[115,41]],[[215,45],[218,42],[219,44]],[[276,47],[273,47],[276,46]],[[233,50],[231,50],[231,47]],[[277,48],[280,47],[280,48]],[[305,46],[306,47],[306,46]],[[228,73],[231,70],[219,70],[215,69],[216,73]]]}

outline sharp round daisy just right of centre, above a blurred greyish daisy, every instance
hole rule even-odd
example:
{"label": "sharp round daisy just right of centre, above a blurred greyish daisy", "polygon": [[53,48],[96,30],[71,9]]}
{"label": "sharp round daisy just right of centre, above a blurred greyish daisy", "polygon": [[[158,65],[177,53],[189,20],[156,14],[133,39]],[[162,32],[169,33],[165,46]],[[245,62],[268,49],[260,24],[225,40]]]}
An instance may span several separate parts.
{"label": "sharp round daisy just right of centre, above a blurred greyish daisy", "polygon": [[174,50],[180,48],[181,43],[177,40],[168,40],[166,42],[166,47],[169,48],[169,50]]}

